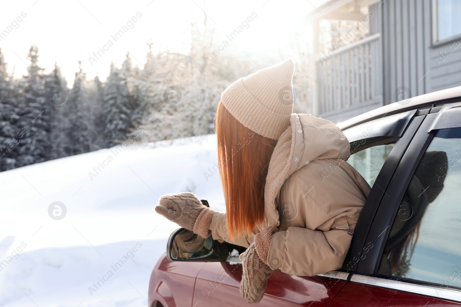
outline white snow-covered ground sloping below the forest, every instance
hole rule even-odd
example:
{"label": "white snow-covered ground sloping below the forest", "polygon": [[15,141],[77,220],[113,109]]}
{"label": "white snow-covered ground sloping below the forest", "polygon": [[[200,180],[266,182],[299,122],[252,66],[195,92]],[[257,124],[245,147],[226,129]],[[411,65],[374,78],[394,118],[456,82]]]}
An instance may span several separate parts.
{"label": "white snow-covered ground sloping below the forest", "polygon": [[[207,135],[0,173],[0,306],[147,306],[150,273],[177,228],[154,206],[165,193],[194,191],[223,212],[219,174],[209,169],[216,162],[216,139]],[[48,215],[57,201],[67,210],[61,220]],[[126,262],[115,271],[119,260]]]}

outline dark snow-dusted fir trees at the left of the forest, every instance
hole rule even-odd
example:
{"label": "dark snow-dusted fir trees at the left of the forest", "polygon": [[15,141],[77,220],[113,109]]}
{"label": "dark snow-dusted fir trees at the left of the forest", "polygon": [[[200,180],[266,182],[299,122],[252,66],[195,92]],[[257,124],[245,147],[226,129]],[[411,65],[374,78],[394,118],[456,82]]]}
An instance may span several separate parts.
{"label": "dark snow-dusted fir trees at the left of the forest", "polygon": [[76,72],[71,88],[59,66],[40,67],[36,46],[28,61],[28,74],[16,78],[0,50],[1,171],[115,145],[147,110],[121,76],[131,73],[129,58],[104,83]]}

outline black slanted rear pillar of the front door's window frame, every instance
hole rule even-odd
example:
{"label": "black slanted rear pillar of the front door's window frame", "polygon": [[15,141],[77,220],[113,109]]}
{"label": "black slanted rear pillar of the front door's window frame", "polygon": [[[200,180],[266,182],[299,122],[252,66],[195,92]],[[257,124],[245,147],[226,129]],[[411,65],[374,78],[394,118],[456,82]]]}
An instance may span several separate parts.
{"label": "black slanted rear pillar of the front door's window frame", "polygon": [[[385,191],[387,190],[390,180],[396,171],[396,168],[402,159],[403,154],[407,150],[407,147],[413,139],[415,133],[417,133],[418,128],[423,122],[425,116],[426,115],[414,116],[410,120],[402,136],[396,140],[396,144],[390,151],[390,154],[384,162],[383,167],[379,171],[370,194],[366,199],[359,220],[357,221],[354,236],[352,237],[349,252],[343,262],[342,270],[355,272],[360,262],[368,257],[367,254],[365,254],[365,258],[362,260],[360,259],[364,255],[363,249],[366,248],[367,243],[369,242],[367,241],[367,235],[372,226],[372,220],[377,213],[378,205],[381,203],[381,200],[385,195]],[[390,137],[389,139],[395,138]],[[382,140],[378,142],[382,142]],[[376,141],[371,144],[376,144]],[[365,142],[365,144],[362,146],[365,147],[367,145],[368,144]],[[360,148],[362,148],[362,146],[360,146]],[[359,149],[359,146],[357,148]],[[373,246],[372,249],[376,249],[376,247]]]}

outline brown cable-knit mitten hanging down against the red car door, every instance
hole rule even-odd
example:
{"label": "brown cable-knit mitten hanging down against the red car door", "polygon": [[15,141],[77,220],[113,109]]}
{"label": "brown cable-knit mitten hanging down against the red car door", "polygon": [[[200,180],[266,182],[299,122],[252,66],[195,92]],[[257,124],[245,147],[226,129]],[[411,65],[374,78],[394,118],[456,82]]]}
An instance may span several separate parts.
{"label": "brown cable-knit mitten hanging down against the red car door", "polygon": [[271,276],[272,270],[265,262],[261,261],[254,243],[240,255],[240,260],[243,271],[240,294],[248,303],[257,303],[264,296],[267,279]]}

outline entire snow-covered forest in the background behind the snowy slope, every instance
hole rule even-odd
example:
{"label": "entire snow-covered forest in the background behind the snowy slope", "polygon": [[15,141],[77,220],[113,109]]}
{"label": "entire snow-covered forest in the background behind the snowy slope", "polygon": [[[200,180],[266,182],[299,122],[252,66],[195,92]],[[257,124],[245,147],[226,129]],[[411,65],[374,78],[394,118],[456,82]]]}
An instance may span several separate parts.
{"label": "entire snow-covered forest in the background behind the snowy slope", "polygon": [[[221,93],[258,70],[249,58],[216,57],[211,40],[192,44],[189,54],[154,53],[147,45],[145,63],[133,64],[127,53],[104,82],[81,68],[71,81],[58,64],[42,68],[37,46],[24,61],[27,75],[9,74],[0,49],[0,171],[108,148],[130,134],[152,142],[213,133]],[[305,107],[303,79],[298,70],[295,110]]]}

